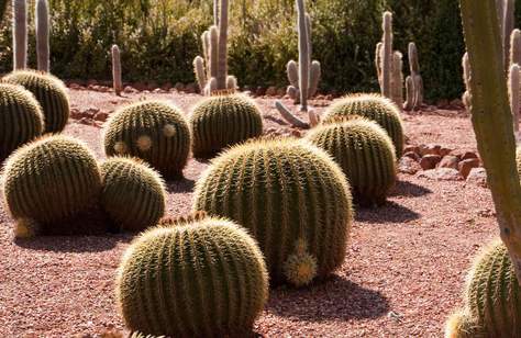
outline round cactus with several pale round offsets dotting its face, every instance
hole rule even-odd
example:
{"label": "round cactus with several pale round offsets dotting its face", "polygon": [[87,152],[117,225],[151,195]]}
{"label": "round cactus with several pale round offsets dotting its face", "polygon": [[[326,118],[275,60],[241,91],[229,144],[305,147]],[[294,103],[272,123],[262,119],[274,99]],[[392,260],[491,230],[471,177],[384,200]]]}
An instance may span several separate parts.
{"label": "round cactus with several pale round offsets dotting its face", "polygon": [[141,101],[119,109],[104,131],[107,156],[133,156],[167,179],[182,177],[190,153],[190,129],[179,109]]}

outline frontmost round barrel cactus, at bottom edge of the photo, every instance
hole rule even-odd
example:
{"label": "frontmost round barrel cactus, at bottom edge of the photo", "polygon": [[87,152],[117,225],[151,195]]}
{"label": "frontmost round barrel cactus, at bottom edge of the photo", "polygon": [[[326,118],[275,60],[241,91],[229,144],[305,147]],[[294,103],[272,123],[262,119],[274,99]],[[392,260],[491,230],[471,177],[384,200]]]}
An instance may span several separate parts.
{"label": "frontmost round barrel cactus, at bottom edge of the photo", "polygon": [[142,335],[243,337],[267,300],[266,266],[255,240],[220,218],[164,222],[126,250],[117,298]]}

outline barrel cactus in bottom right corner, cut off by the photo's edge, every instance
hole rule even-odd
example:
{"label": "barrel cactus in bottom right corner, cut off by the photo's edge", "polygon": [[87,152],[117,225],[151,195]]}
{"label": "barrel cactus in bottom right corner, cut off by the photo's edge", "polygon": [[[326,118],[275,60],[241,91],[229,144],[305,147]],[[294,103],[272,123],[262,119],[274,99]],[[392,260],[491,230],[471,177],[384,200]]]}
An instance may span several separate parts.
{"label": "barrel cactus in bottom right corner, cut off by the photo's edge", "polygon": [[477,258],[467,279],[465,309],[447,323],[446,337],[521,337],[521,289],[507,247],[497,241]]}

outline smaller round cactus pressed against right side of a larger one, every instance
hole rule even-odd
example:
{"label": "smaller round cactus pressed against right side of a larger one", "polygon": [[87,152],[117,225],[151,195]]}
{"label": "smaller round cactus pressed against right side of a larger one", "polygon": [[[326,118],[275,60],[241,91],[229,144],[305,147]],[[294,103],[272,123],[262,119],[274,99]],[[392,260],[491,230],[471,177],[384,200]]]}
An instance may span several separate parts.
{"label": "smaller round cactus pressed against right side of a larger one", "polygon": [[163,217],[166,201],[163,179],[144,162],[109,158],[101,165],[101,205],[123,230],[143,230]]}

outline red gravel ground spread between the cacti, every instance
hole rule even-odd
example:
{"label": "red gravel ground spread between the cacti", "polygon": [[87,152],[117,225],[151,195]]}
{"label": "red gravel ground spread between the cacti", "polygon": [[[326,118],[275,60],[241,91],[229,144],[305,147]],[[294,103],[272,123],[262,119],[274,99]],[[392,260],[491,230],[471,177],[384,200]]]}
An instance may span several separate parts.
{"label": "red gravel ground spread between the cacti", "polygon": [[[71,91],[76,109],[111,112],[123,101],[109,93]],[[195,94],[149,94],[185,111]],[[266,131],[280,125],[273,100],[257,99]],[[328,102],[315,102],[323,104]],[[321,109],[319,109],[321,111]],[[432,111],[403,115],[412,144],[475,149],[468,116]],[[86,140],[101,158],[101,129],[71,122],[66,134]],[[195,181],[207,164],[190,160],[186,179],[168,184],[168,213],[189,212]],[[399,176],[386,206],[357,211],[347,257],[329,281],[304,290],[280,288],[255,330],[266,337],[442,337],[461,304],[465,272],[476,251],[497,236],[490,192],[465,181]],[[3,201],[2,201],[3,202]],[[97,336],[123,329],[114,271],[129,235],[40,237],[13,241],[0,209],[0,337]]]}

